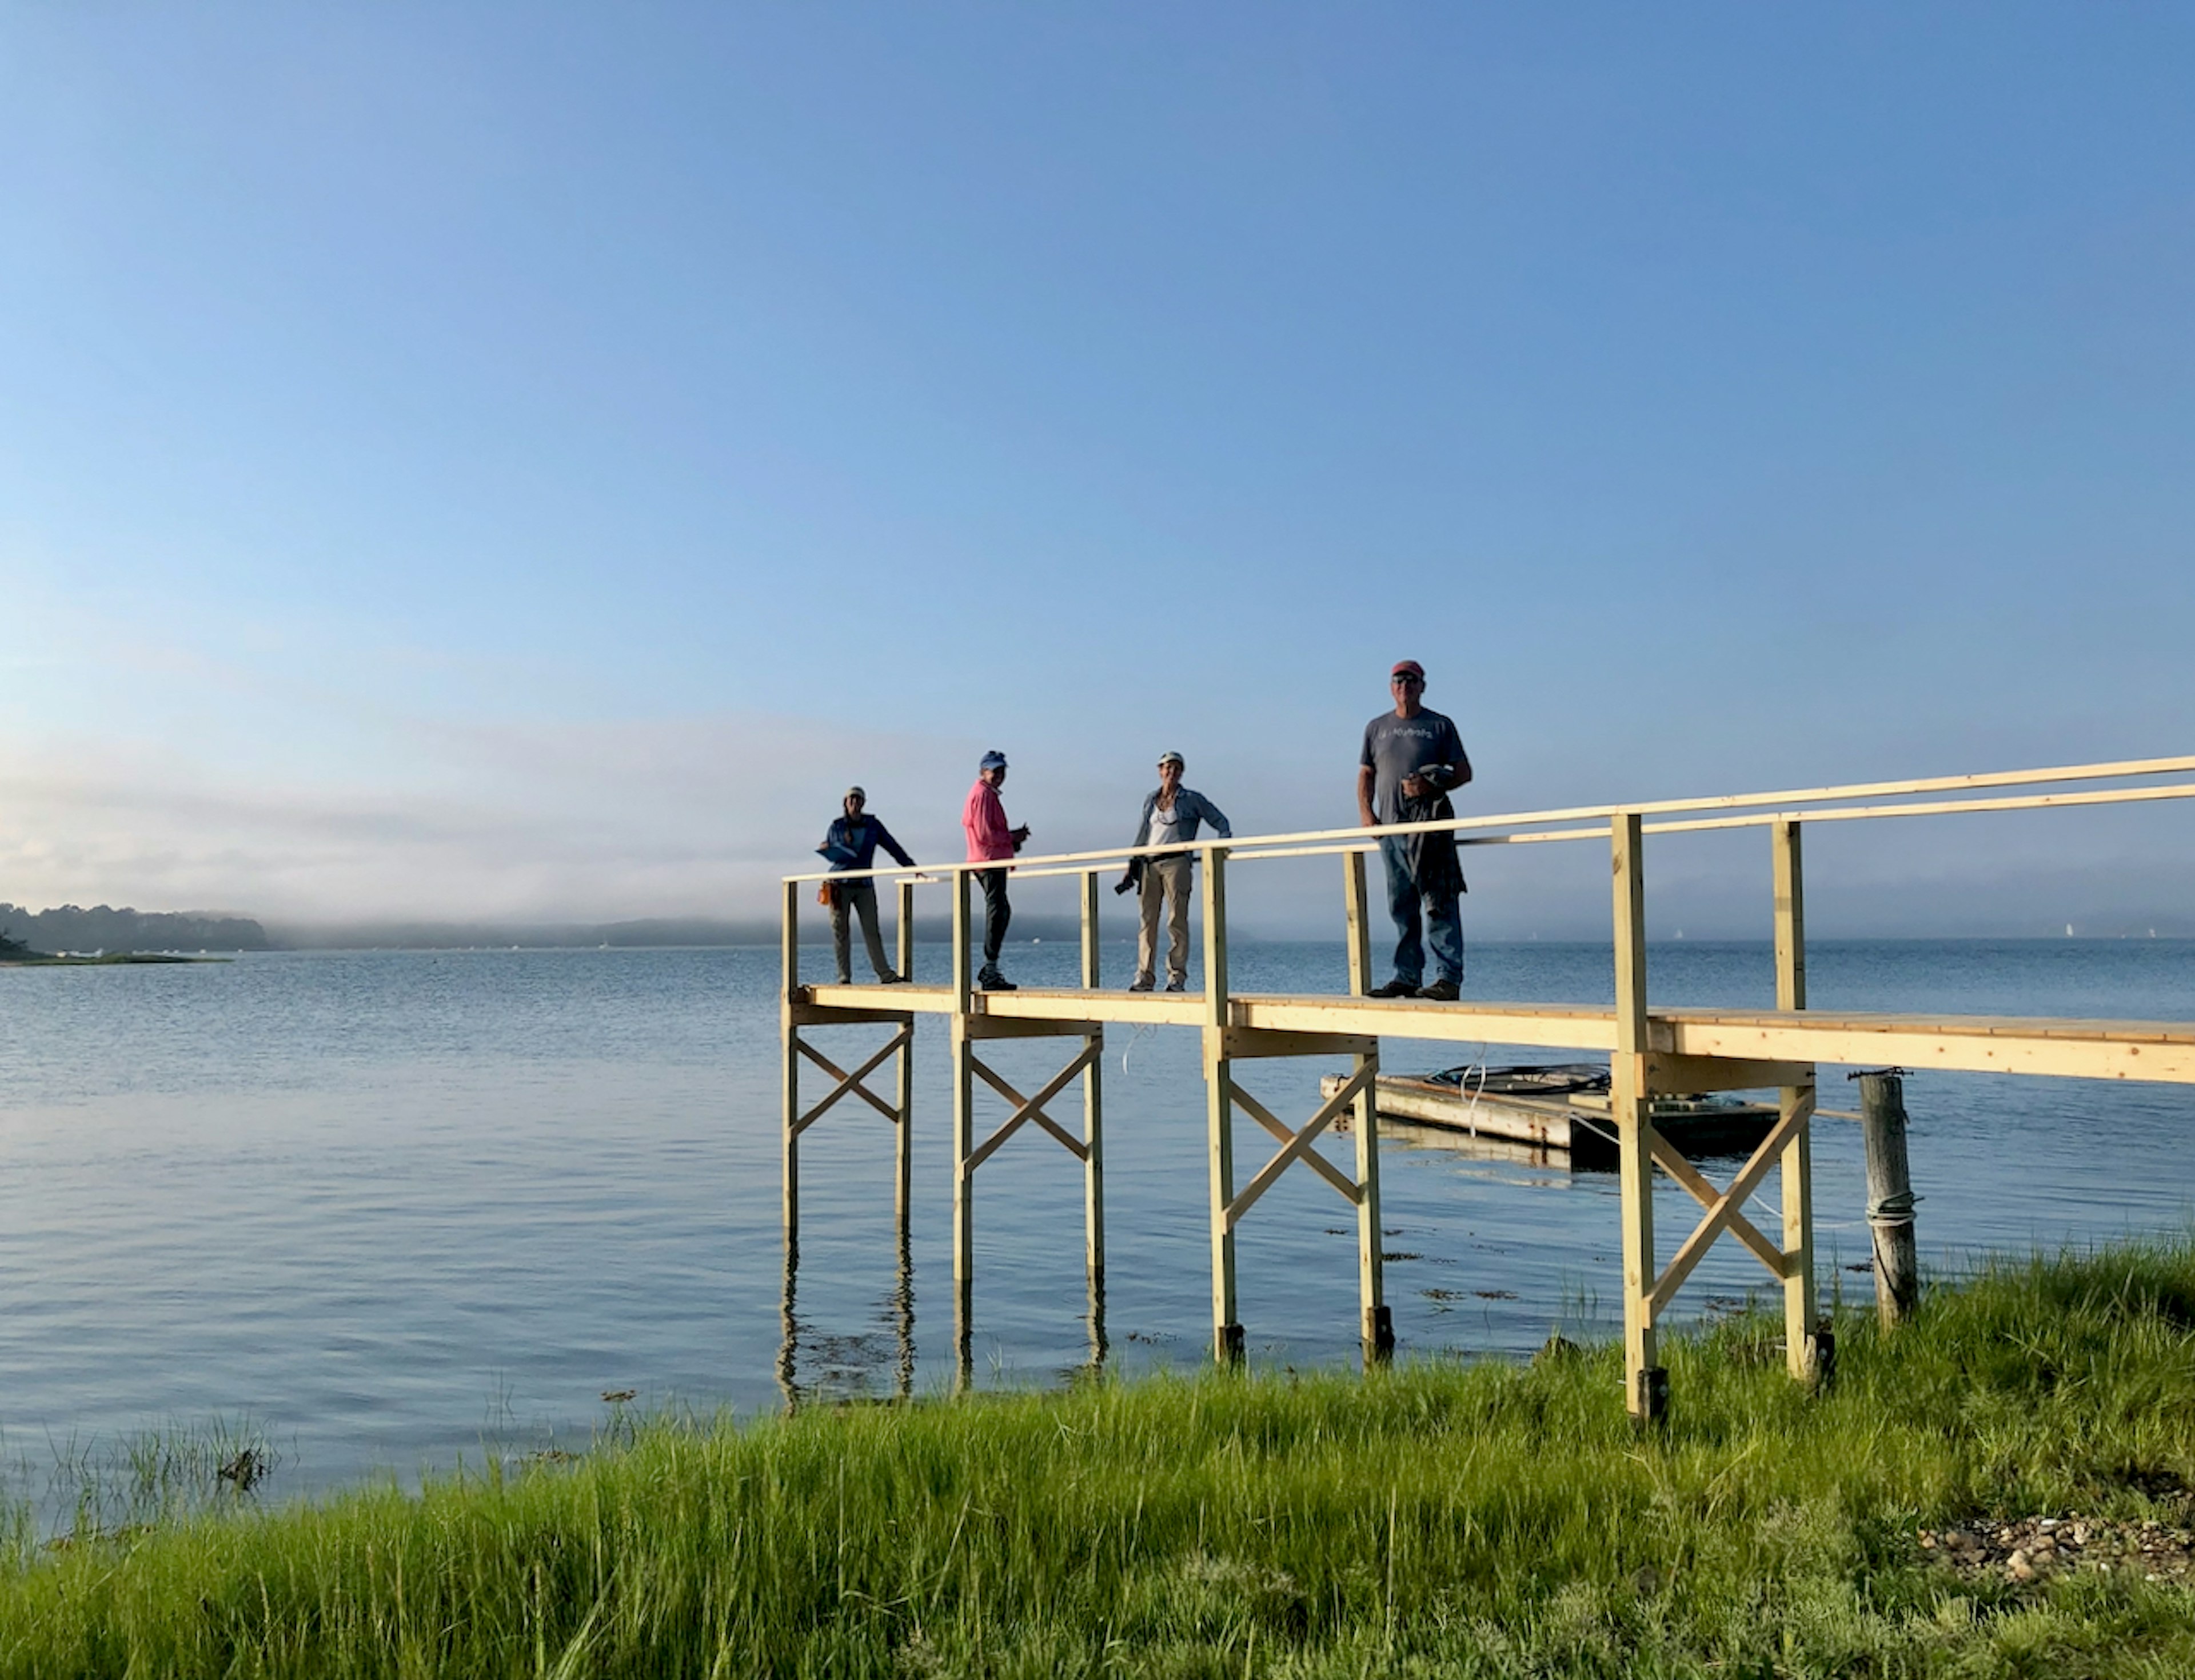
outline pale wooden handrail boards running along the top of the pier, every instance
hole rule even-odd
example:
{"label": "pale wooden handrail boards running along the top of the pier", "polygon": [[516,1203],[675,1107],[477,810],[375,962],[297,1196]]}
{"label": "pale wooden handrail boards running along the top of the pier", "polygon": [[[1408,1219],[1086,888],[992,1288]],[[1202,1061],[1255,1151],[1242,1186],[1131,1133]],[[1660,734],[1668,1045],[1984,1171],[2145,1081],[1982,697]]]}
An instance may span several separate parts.
{"label": "pale wooden handrail boards running along the top of the pier", "polygon": [[[1194,840],[1187,847],[1102,847],[1098,851],[1060,851],[1036,858],[918,864],[915,869],[817,869],[786,875],[786,882],[858,882],[858,879],[944,879],[988,869],[1014,869],[1021,877],[1082,875],[1091,869],[1124,864],[1130,858],[1179,855],[1183,851],[1225,849],[1236,860],[1302,858],[1335,851],[1363,851],[1381,838],[1405,833],[1457,833],[1464,847],[1532,844],[1547,840],[1602,840],[1605,827],[1556,829],[1552,833],[1493,833],[1475,829],[1545,829],[1554,822],[1605,822],[1618,814],[1666,816],[1675,811],[1745,811],[1743,816],[1703,816],[1679,822],[1648,822],[1646,833],[1692,833],[1701,829],[1767,827],[1782,820],[1850,822],[1890,816],[1954,816],[1965,811],[2055,809],[2070,805],[2123,805],[2158,798],[2195,798],[2195,783],[2171,787],[2107,787],[2072,794],[2017,794],[2008,798],[1929,801],[1905,805],[1837,805],[1835,801],[1910,798],[1978,787],[2037,787],[2068,781],[2127,781],[2134,776],[2169,776],[2195,772],[2195,757],[2120,759],[2112,763],[2059,765],[2050,770],[1991,770],[1971,776],[1921,776],[1912,781],[1868,781],[1842,787],[1800,787],[1769,794],[1712,794],[1706,798],[1662,798],[1618,805],[1569,805],[1545,811],[1506,811],[1495,816],[1457,816],[1436,822],[1387,822],[1381,827],[1302,829],[1295,833],[1236,836],[1231,840]],[[1782,807],[1782,809],[1758,809]],[[1793,809],[1813,807],[1813,809]],[[1291,847],[1293,851],[1275,851]]]}

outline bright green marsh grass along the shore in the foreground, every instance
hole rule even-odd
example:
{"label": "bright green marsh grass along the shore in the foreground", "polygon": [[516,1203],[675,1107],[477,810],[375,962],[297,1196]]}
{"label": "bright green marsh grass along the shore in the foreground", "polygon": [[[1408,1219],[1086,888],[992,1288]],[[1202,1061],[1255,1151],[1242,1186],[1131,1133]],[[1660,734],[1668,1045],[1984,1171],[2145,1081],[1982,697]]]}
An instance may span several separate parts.
{"label": "bright green marsh grass along the shore in the foreground", "polygon": [[1839,1375],[1780,1325],[1530,1369],[1196,1375],[619,1430],[571,1465],[18,1548],[26,1676],[2191,1676],[2195,1597],[1932,1566],[2175,1524],[2195,1239],[2002,1263]]}

